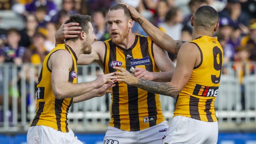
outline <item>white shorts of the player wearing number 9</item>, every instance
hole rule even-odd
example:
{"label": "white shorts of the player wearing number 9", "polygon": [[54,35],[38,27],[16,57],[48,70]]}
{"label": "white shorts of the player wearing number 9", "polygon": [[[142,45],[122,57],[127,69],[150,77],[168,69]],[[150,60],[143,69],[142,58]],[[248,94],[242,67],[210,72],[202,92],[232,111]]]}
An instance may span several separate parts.
{"label": "white shorts of the player wearing number 9", "polygon": [[186,116],[175,116],[162,144],[217,144],[218,122],[204,122]]}

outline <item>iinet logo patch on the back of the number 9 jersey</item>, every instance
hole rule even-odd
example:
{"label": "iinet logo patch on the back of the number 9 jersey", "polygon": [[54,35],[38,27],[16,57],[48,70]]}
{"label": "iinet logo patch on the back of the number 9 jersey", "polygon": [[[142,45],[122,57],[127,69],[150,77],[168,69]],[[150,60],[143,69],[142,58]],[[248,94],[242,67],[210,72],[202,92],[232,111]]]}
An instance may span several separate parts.
{"label": "iinet logo patch on the back of the number 9 jersey", "polygon": [[193,91],[193,95],[196,96],[207,96],[207,97],[216,97],[219,87],[207,87],[204,85],[196,85]]}

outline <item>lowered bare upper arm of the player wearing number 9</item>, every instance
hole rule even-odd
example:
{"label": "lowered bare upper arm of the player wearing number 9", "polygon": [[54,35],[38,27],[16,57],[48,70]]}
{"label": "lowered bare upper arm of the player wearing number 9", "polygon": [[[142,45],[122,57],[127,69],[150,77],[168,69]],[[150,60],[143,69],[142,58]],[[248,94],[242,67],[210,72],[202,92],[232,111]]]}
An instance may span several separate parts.
{"label": "lowered bare upper arm of the player wearing number 9", "polygon": [[177,64],[171,83],[176,85],[179,90],[182,90],[189,81],[197,61],[197,55],[200,55],[197,48],[190,46],[191,44],[182,46],[177,56]]}

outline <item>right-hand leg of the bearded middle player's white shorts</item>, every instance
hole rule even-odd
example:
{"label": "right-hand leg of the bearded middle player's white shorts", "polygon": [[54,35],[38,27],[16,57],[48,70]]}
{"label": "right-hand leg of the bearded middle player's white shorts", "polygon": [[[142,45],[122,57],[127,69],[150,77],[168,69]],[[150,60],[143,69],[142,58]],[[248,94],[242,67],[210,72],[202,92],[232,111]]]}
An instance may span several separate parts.
{"label": "right-hand leg of the bearded middle player's white shorts", "polygon": [[156,126],[139,131],[138,144],[161,144],[168,127],[167,121],[164,121]]}

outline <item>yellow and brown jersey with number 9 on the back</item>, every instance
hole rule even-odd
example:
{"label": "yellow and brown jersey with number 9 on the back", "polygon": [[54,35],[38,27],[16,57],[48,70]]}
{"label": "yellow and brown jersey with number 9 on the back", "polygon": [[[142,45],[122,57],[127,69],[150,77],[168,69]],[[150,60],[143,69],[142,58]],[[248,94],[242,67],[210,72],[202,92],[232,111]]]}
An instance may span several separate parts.
{"label": "yellow and brown jersey with number 9 on the back", "polygon": [[187,116],[215,122],[214,101],[218,93],[223,64],[223,49],[217,37],[202,36],[191,41],[200,51],[200,64],[177,97],[174,116]]}

